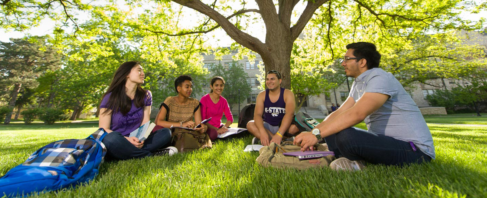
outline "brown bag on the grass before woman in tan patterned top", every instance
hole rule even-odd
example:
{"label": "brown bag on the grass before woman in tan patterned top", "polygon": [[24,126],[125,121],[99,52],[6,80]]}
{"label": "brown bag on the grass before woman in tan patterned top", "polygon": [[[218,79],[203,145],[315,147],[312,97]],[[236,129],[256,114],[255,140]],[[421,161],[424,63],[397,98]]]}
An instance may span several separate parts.
{"label": "brown bag on the grass before woman in tan patterned top", "polygon": [[184,153],[211,148],[211,140],[207,133],[174,128],[171,145],[176,147],[179,153]]}

